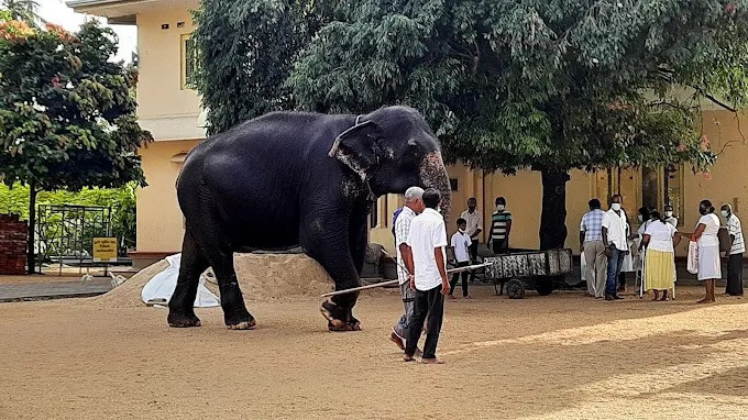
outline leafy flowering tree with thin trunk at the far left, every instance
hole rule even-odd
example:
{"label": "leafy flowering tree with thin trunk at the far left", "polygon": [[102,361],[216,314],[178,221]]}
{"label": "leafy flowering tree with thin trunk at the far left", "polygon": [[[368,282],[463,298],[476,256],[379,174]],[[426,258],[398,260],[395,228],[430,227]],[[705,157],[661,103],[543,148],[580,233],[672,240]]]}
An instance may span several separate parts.
{"label": "leafy flowering tree with thin trunk at the far left", "polygon": [[[29,185],[30,223],[41,190],[145,185],[134,74],[109,58],[117,36],[97,22],[70,34],[0,23],[0,179]],[[30,267],[33,267],[30,230]]]}

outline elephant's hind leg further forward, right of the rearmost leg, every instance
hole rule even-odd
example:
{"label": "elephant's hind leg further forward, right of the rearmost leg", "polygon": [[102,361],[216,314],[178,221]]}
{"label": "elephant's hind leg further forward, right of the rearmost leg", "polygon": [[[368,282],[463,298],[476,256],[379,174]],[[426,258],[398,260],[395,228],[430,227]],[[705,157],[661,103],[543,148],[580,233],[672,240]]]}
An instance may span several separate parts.
{"label": "elephant's hind leg further forward, right of the rearmost leg", "polygon": [[256,322],[244,306],[244,297],[234,270],[233,252],[230,248],[219,248],[208,252],[207,255],[218,279],[226,327],[230,330],[253,329]]}

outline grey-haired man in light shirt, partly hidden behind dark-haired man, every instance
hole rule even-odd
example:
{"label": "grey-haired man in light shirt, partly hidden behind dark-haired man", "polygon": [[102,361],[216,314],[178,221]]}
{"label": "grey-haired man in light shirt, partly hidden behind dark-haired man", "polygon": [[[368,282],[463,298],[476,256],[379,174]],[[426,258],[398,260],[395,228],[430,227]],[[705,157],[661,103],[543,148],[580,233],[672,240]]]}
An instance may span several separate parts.
{"label": "grey-haired man in light shirt, partly hidden behind dark-haired man", "polygon": [[400,319],[393,327],[393,332],[389,334],[389,340],[397,344],[400,350],[405,351],[405,341],[408,338],[408,324],[413,317],[414,301],[416,298],[416,290],[410,288],[409,275],[405,268],[406,256],[409,253],[408,248],[408,233],[410,233],[410,223],[416,218],[417,213],[424,211],[424,189],[420,187],[410,187],[405,191],[405,206],[395,220],[395,248],[397,250],[397,279],[400,284],[400,296],[403,297],[403,306],[405,312]]}

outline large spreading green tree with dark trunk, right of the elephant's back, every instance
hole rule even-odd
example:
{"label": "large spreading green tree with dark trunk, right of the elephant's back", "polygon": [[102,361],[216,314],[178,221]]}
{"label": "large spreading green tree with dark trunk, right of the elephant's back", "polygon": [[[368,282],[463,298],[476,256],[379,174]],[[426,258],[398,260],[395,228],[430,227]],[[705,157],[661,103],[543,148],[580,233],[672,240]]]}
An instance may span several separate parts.
{"label": "large spreading green tree with dark trunk, right of the elephant's back", "polygon": [[[746,100],[746,1],[332,3],[334,19],[322,19],[308,46],[287,53],[296,59],[285,84],[261,84],[284,97],[290,89],[292,102],[306,110],[410,104],[426,114],[452,162],[541,170],[541,247],[565,240],[559,226],[570,169],[685,162],[707,170],[715,155],[697,133],[701,101],[735,109]],[[276,27],[267,19],[263,24]],[[244,31],[226,36],[239,42],[266,32]],[[213,54],[212,66],[223,66],[220,57],[252,68],[241,55]],[[210,98],[206,104],[222,128],[231,125],[226,119],[240,121],[213,109]]]}

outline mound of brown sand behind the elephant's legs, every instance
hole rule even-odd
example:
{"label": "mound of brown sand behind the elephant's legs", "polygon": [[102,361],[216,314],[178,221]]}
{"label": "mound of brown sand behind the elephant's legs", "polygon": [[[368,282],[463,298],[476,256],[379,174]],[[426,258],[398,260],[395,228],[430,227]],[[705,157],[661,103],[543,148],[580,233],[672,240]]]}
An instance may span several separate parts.
{"label": "mound of brown sand behind the elephant's legs", "polygon": [[[145,306],[141,290],[153,276],[168,267],[162,259],[132,276],[121,286],[88,299],[107,307]],[[239,284],[249,301],[297,301],[331,291],[332,279],[314,259],[304,254],[235,254],[234,267]],[[218,294],[218,285],[209,277],[206,286]]]}

